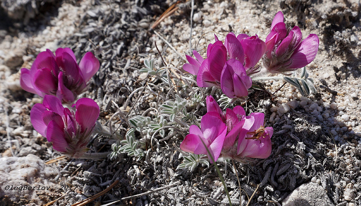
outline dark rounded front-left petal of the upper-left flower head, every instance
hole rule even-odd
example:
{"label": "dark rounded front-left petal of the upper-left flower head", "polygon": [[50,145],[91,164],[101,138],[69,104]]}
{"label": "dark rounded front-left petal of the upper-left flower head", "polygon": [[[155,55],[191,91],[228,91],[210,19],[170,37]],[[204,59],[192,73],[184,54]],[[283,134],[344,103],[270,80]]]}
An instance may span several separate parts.
{"label": "dark rounded front-left petal of the upper-left flower head", "polygon": [[34,75],[34,85],[45,94],[54,94],[57,91],[57,79],[48,68],[39,69]]}

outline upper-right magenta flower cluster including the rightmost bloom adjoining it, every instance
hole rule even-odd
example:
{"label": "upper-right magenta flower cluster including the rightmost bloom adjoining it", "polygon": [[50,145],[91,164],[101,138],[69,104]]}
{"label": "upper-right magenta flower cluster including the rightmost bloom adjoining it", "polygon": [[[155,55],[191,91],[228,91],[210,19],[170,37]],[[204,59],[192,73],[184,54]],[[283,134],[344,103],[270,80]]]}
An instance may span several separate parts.
{"label": "upper-right magenta flower cluster including the rightmost bloom adjoining it", "polygon": [[255,36],[230,32],[224,43],[215,37],[215,43],[207,47],[205,59],[193,51],[196,59],[186,55],[189,63],[183,65],[187,72],[197,75],[199,87],[220,87],[229,98],[248,96],[252,86],[249,75],[260,71],[257,67],[262,58],[270,73],[287,74],[313,61],[318,51],[318,36],[310,34],[302,40],[299,27],[287,31],[283,13],[273,19],[266,42]]}

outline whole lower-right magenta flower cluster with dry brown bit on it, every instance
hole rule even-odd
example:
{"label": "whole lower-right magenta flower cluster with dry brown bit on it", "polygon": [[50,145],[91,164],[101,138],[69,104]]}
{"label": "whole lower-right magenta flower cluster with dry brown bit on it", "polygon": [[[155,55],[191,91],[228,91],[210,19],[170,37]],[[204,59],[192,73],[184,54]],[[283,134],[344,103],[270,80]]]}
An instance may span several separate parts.
{"label": "whole lower-right magenta flower cluster with dry brown bit on it", "polygon": [[183,151],[207,154],[211,163],[220,156],[238,161],[269,157],[273,128],[263,126],[263,113],[246,116],[241,106],[222,111],[212,96],[207,96],[206,104],[207,113],[201,119],[201,128],[190,126],[190,134],[180,146]]}

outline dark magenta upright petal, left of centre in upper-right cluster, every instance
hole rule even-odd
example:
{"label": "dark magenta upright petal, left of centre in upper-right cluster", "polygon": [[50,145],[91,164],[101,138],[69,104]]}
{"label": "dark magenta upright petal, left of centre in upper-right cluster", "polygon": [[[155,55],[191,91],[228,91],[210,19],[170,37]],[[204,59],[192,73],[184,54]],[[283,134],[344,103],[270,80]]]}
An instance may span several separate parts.
{"label": "dark magenta upright petal, left of centre in upper-right cluster", "polygon": [[218,82],[221,80],[221,73],[226,60],[227,52],[224,46],[215,46],[212,51],[210,51],[208,58],[209,73]]}

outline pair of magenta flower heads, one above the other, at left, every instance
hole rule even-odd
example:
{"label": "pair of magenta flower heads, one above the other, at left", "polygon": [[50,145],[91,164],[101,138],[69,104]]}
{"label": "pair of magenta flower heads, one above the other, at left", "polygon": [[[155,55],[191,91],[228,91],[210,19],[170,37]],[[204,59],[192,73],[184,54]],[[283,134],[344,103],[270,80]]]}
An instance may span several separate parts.
{"label": "pair of magenta flower heads, one above the other, at left", "polygon": [[99,61],[91,52],[78,65],[69,48],[58,48],[55,55],[49,49],[40,52],[30,70],[21,69],[21,87],[44,97],[43,104],[35,104],[30,111],[34,129],[69,157],[79,158],[87,151],[100,110],[90,98],[79,99],[72,106],[75,113],[62,102],[74,102],[98,70]]}

